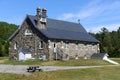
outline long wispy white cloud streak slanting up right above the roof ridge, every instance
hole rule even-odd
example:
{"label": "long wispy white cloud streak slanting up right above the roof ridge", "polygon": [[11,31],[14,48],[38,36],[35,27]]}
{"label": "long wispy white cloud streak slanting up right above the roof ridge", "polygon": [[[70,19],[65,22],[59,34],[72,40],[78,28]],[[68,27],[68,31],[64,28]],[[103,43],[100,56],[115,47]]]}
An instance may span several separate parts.
{"label": "long wispy white cloud streak slanting up right above the roof ridge", "polygon": [[101,0],[97,0],[90,2],[86,4],[81,10],[79,10],[76,13],[63,13],[58,17],[58,19],[63,19],[63,20],[71,20],[71,18],[76,18],[76,19],[84,19],[93,15],[96,15],[98,13],[101,13],[103,9],[101,9],[101,6],[98,6],[97,3],[99,3]]}

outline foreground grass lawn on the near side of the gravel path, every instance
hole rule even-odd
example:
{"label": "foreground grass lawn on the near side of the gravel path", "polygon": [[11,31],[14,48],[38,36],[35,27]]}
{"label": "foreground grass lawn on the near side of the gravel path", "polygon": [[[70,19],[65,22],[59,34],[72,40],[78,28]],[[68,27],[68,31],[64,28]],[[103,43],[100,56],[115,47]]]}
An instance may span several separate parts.
{"label": "foreground grass lawn on the near side of the gravel path", "polygon": [[0,73],[0,80],[120,80],[120,66],[35,72],[30,75]]}

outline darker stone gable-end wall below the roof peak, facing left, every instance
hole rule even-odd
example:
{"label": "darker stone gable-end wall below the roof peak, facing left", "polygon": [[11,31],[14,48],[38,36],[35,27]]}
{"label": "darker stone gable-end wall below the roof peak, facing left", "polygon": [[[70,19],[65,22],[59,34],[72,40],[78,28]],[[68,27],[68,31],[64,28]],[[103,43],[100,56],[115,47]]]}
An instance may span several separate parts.
{"label": "darker stone gable-end wall below the roof peak, facing left", "polygon": [[[38,31],[33,28],[33,26],[28,23],[28,19],[26,19],[17,35],[13,37],[13,39],[10,41],[10,47],[9,47],[9,54],[11,57],[18,57],[18,53],[21,49],[29,49],[30,53],[32,54],[32,57],[39,58],[40,54],[46,54],[48,57],[48,45],[47,45],[47,39]],[[25,31],[26,29],[30,30],[30,35],[26,35]],[[43,41],[44,48],[39,48],[40,41]],[[14,48],[16,44],[16,49]]]}

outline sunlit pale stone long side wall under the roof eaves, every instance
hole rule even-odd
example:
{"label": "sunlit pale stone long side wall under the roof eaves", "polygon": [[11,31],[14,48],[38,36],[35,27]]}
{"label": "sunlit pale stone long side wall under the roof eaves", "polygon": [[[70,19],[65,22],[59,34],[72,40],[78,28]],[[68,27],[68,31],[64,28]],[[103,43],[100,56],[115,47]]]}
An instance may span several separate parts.
{"label": "sunlit pale stone long side wall under the roof eaves", "polygon": [[99,44],[95,43],[49,40],[49,53],[51,54],[51,59],[54,57],[54,49],[56,48],[62,50],[63,59],[67,59],[66,55],[71,59],[90,58],[93,53],[99,52]]}

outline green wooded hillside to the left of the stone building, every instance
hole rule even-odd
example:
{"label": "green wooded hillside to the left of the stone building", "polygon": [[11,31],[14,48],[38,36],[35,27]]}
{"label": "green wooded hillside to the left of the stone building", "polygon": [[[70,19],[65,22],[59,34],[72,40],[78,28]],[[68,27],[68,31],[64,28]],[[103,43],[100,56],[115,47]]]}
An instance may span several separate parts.
{"label": "green wooded hillside to the left of the stone building", "polygon": [[9,53],[9,41],[8,38],[18,28],[15,24],[9,24],[6,22],[0,22],[0,57],[8,56]]}

